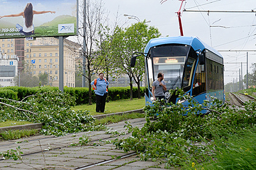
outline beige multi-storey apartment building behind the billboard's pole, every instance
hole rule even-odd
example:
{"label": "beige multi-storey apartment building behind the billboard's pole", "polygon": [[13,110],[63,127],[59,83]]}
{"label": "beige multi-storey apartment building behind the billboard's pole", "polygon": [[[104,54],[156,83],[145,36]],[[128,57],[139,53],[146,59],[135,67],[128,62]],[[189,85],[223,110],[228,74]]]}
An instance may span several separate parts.
{"label": "beige multi-storey apartment building behind the billboard's pole", "polygon": [[[23,70],[22,61],[24,60],[30,67],[32,75],[47,73],[49,85],[59,86],[59,40],[57,38],[1,39],[0,47],[1,53],[7,58],[19,57],[20,71]],[[75,87],[75,60],[79,56],[78,51],[77,43],[64,39],[64,86]]]}

